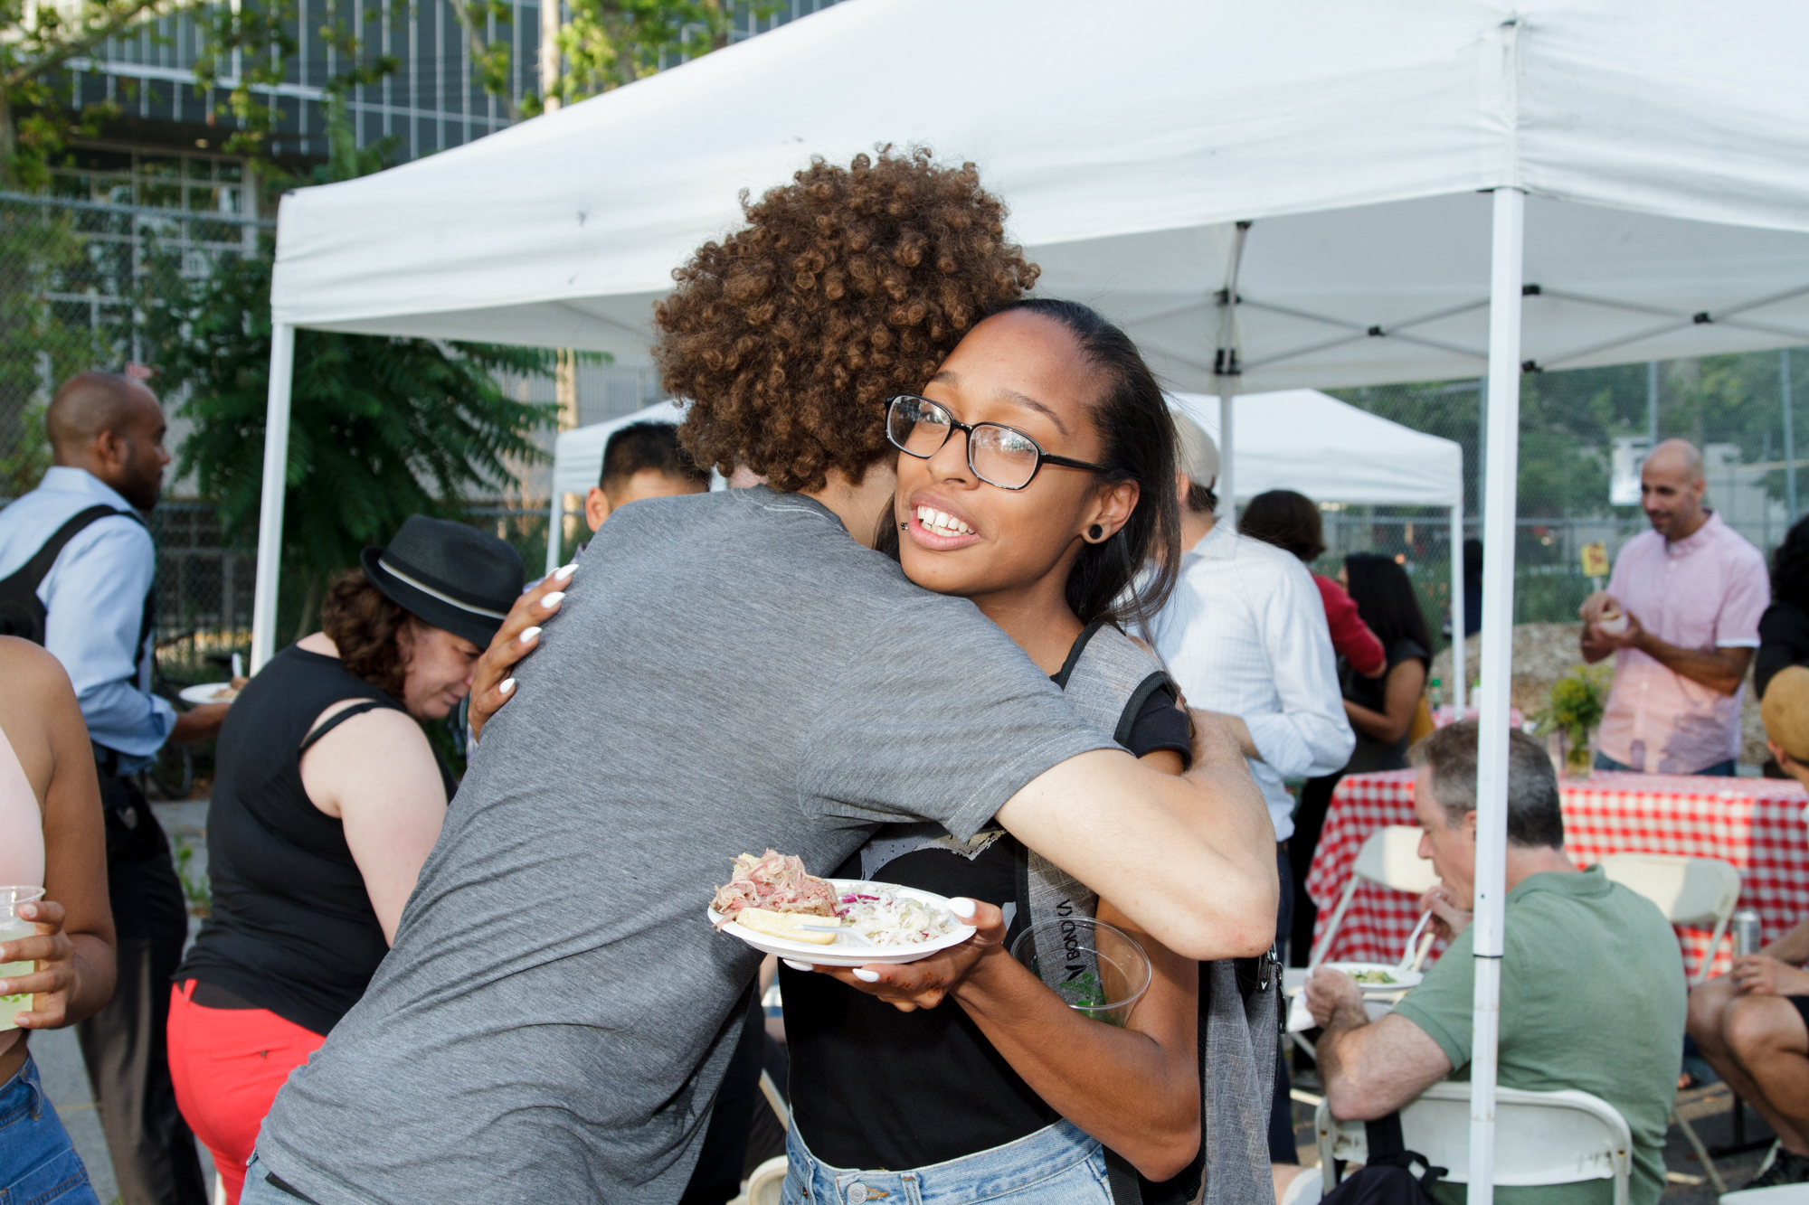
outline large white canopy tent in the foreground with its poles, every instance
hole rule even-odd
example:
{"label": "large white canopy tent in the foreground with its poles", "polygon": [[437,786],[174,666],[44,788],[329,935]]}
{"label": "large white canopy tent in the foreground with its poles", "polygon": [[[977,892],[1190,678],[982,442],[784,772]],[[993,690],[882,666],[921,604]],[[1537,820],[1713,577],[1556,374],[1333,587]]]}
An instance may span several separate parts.
{"label": "large white canopy tent in the foreground with its poles", "polygon": [[640,355],[671,268],[810,154],[977,161],[1042,289],[1102,306],[1183,389],[1487,367],[1471,1200],[1491,1201],[1518,378],[1809,342],[1805,38],[1782,0],[852,0],[293,194],[253,660],[295,327]]}

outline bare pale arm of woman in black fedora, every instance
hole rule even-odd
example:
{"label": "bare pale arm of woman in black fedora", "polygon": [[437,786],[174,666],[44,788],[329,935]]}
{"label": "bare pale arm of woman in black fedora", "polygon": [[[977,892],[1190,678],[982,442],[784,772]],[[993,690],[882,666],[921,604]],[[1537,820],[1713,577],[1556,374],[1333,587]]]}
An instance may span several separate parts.
{"label": "bare pale arm of woman in black fedora", "polygon": [[[333,704],[317,726],[356,702]],[[445,783],[427,733],[398,707],[355,715],[302,754],[302,787],[315,807],[346,825],[346,845],[384,939],[394,943],[402,906],[447,816]]]}

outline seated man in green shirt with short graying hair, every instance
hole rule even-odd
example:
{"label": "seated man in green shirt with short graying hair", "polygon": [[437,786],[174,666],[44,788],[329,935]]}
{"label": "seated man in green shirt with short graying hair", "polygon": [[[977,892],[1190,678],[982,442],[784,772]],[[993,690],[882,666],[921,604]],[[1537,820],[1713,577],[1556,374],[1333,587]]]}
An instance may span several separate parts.
{"label": "seated man in green shirt with short graying hair", "polygon": [[[1413,751],[1413,764],[1420,856],[1431,858],[1440,878],[1424,906],[1451,948],[1377,1022],[1364,1015],[1350,975],[1321,968],[1308,981],[1308,1008],[1326,1029],[1319,1040],[1326,1100],[1346,1120],[1386,1116],[1442,1078],[1469,1078],[1476,724],[1433,733]],[[1664,1189],[1664,1127],[1677,1096],[1684,1008],[1672,926],[1601,867],[1577,870],[1565,856],[1552,764],[1536,740],[1511,733],[1500,1084],[1579,1089],[1619,1109],[1634,1131],[1630,1205],[1653,1205]],[[1614,1181],[1494,1192],[1501,1205],[1606,1205]],[[1460,1205],[1463,1185],[1438,1183],[1433,1194]]]}

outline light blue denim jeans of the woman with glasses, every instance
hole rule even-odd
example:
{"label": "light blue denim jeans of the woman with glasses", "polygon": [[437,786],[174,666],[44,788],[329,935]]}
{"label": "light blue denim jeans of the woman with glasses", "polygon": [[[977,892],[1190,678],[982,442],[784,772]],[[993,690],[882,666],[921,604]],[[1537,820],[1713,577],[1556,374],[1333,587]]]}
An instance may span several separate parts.
{"label": "light blue denim jeans of the woman with glasses", "polygon": [[991,1151],[901,1172],[830,1167],[810,1154],[792,1125],[785,1160],[781,1205],[968,1205],[1009,1198],[1037,1205],[1113,1205],[1105,1151],[1067,1122]]}

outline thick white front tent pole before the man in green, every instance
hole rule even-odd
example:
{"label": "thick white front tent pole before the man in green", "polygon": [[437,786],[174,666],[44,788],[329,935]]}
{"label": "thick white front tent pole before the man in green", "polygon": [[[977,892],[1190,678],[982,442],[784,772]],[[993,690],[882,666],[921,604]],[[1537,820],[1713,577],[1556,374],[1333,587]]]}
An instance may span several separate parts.
{"label": "thick white front tent pole before the man in green", "polygon": [[1489,460],[1483,469],[1482,711],[1476,756],[1476,995],[1471,1037],[1469,1205],[1494,1203],[1494,1080],[1507,879],[1507,702],[1514,660],[1514,508],[1520,456],[1520,289],[1527,194],[1494,190],[1489,264]]}

